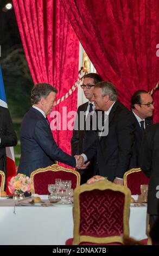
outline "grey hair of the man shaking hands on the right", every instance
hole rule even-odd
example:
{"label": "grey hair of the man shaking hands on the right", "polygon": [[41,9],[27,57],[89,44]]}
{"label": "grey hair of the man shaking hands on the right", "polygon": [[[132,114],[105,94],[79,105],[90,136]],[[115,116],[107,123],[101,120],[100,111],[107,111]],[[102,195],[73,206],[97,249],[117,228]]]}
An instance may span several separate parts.
{"label": "grey hair of the man shaking hands on the right", "polygon": [[116,101],[117,100],[117,89],[116,87],[109,81],[102,81],[99,83],[96,83],[94,86],[95,88],[101,88],[102,90],[102,96],[109,95],[110,100]]}

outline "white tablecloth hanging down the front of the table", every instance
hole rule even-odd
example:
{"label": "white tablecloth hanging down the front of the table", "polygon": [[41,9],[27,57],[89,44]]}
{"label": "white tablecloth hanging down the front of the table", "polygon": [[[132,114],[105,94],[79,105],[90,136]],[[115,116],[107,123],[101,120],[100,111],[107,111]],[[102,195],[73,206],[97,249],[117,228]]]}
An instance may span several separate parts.
{"label": "white tablecloth hanging down the front of the table", "polygon": [[[130,236],[147,236],[147,207],[131,207]],[[16,206],[11,199],[0,200],[0,245],[65,245],[73,237],[72,206]]]}

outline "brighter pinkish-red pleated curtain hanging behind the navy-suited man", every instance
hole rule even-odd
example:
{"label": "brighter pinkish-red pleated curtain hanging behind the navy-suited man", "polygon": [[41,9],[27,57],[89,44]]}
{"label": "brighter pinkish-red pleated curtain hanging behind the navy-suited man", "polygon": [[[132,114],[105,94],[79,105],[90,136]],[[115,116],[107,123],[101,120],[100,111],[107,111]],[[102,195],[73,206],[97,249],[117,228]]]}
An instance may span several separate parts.
{"label": "brighter pinkish-red pleated curtain hanging behind the navy-suited man", "polygon": [[[56,0],[12,2],[34,83],[52,84],[58,89],[56,99],[61,99],[78,78],[79,59],[79,41],[65,10]],[[77,110],[77,90],[53,110],[62,114],[63,106],[67,112]],[[53,133],[59,147],[70,154],[72,131]]]}

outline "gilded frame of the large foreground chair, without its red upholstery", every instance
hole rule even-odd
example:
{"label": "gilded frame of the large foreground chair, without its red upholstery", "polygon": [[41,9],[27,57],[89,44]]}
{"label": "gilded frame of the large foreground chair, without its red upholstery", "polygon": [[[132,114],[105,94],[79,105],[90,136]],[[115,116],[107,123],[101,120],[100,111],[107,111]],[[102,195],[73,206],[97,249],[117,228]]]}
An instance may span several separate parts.
{"label": "gilded frame of the large foreground chair, without its red upholstery", "polygon": [[73,208],[73,216],[74,216],[74,230],[73,230],[73,245],[79,245],[82,242],[91,242],[97,244],[103,243],[113,243],[119,242],[123,243],[122,236],[107,236],[107,237],[94,237],[94,236],[81,236],[79,234],[80,228],[80,194],[85,191],[92,190],[112,190],[119,191],[125,194],[125,202],[124,202],[124,216],[123,216],[123,227],[124,234],[129,236],[129,211],[130,211],[130,197],[131,192],[129,188],[126,188],[122,185],[113,184],[110,181],[98,181],[93,184],[83,184],[74,190],[74,208]]}

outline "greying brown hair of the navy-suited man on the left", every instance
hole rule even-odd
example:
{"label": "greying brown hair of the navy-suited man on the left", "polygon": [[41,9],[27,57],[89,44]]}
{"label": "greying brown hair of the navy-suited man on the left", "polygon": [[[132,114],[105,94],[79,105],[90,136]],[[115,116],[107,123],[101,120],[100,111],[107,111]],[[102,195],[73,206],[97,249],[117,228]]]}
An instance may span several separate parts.
{"label": "greying brown hair of the navy-suited man on the left", "polygon": [[39,103],[42,97],[46,98],[51,92],[57,93],[58,90],[48,83],[35,84],[35,86],[31,90],[31,105]]}

